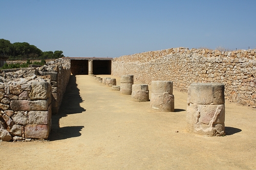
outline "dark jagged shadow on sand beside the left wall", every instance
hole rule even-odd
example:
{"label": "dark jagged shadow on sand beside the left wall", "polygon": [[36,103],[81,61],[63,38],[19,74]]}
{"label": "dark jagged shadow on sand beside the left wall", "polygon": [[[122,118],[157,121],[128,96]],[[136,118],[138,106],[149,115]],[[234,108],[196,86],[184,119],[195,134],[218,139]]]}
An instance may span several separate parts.
{"label": "dark jagged shadow on sand beside the left wall", "polygon": [[52,129],[49,140],[61,140],[81,135],[80,131],[84,128],[83,126],[59,127],[60,118],[66,117],[68,114],[86,111],[86,109],[80,107],[80,103],[82,103],[82,98],[77,88],[76,77],[72,75],[63,95],[58,114],[52,115]]}

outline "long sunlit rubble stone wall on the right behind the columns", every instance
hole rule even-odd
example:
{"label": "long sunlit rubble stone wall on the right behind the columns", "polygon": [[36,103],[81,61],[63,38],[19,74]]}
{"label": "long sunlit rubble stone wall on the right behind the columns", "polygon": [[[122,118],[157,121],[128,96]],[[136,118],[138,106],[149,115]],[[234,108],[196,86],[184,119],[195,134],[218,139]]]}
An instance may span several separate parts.
{"label": "long sunlit rubble stone wall on the right behind the columns", "polygon": [[187,91],[191,83],[223,83],[225,98],[256,107],[256,50],[220,52],[180,47],[114,58],[114,76],[134,75],[136,81],[174,82],[174,89]]}

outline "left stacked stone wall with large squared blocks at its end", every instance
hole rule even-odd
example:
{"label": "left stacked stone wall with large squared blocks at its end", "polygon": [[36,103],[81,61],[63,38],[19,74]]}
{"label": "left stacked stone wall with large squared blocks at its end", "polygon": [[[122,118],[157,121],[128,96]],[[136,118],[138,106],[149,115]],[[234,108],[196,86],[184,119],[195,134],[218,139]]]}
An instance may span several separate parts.
{"label": "left stacked stone wall with large squared blocks at its end", "polygon": [[70,62],[38,68],[1,70],[0,139],[47,139],[70,78]]}

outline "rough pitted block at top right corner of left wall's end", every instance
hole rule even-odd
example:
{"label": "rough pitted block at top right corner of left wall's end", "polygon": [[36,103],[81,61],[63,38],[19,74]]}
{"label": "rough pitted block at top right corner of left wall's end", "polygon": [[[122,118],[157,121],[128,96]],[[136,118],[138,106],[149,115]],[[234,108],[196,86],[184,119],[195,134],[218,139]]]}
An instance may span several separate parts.
{"label": "rough pitted block at top right corner of left wall's end", "polygon": [[31,88],[31,100],[46,100],[50,96],[51,87],[48,82],[32,82]]}

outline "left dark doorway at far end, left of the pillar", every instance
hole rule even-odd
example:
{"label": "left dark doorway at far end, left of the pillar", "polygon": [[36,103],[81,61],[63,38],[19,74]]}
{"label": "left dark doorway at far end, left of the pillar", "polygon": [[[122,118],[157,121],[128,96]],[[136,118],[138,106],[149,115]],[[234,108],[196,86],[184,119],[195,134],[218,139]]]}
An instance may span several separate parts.
{"label": "left dark doorway at far end, left of the pillar", "polygon": [[72,75],[88,75],[88,60],[71,60]]}

